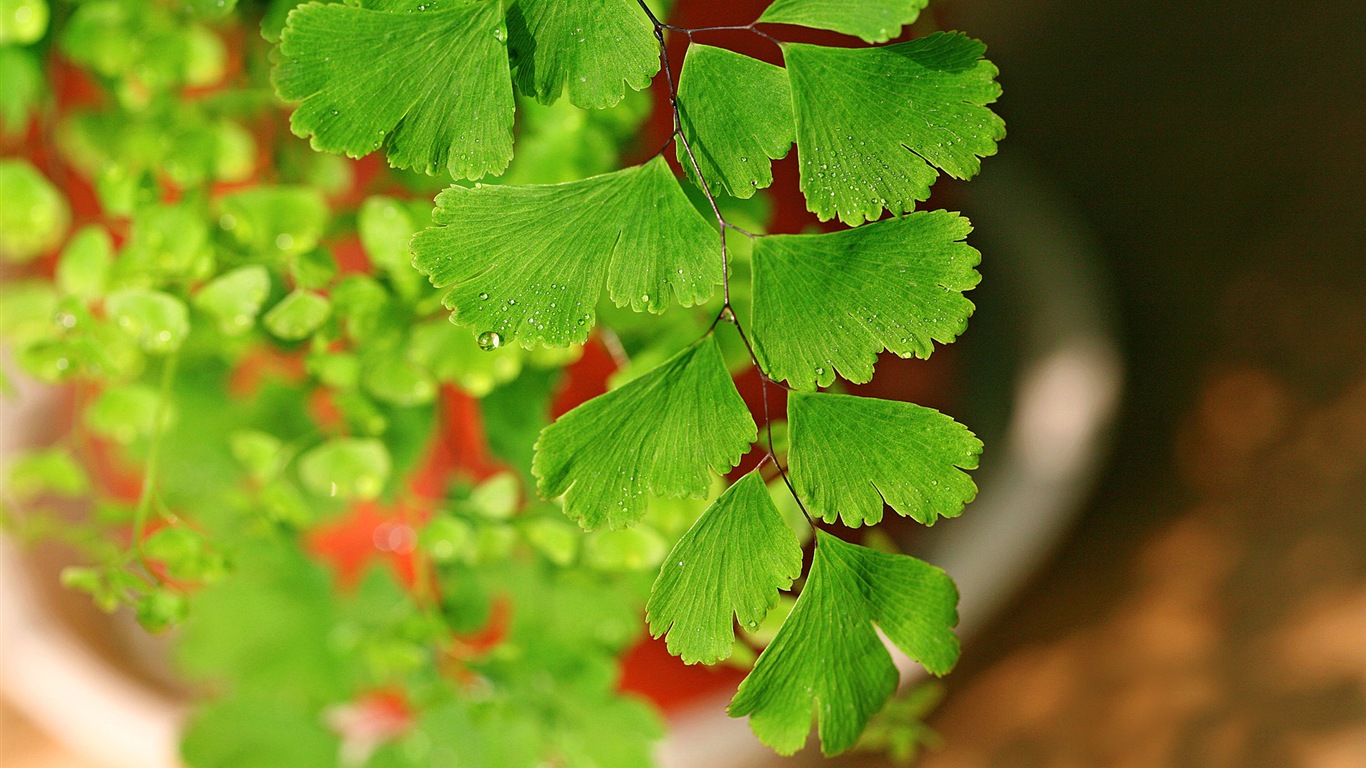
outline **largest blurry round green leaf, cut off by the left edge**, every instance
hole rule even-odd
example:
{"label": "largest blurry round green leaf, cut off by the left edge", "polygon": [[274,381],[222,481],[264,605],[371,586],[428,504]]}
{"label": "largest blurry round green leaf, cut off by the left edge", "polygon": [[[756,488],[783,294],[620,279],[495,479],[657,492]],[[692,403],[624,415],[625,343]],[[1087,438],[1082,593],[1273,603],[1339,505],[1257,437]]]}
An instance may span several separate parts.
{"label": "largest blurry round green leaf, cut off by the left edge", "polygon": [[31,261],[67,234],[66,198],[27,160],[0,160],[0,261]]}

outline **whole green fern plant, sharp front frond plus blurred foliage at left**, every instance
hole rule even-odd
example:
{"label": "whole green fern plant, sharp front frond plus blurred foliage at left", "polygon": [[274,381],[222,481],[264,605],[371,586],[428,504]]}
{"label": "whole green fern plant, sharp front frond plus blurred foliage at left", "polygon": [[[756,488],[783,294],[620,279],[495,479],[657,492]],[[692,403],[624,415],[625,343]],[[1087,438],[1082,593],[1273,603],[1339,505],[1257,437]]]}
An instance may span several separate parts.
{"label": "whole green fern plant, sharp front frond plus blurred foliage at left", "polygon": [[[242,5],[89,0],[0,49],[23,72],[74,61],[104,94],[16,89],[0,113],[38,111],[29,143],[56,135],[98,201],[67,236],[44,174],[0,167],[29,216],[4,223],[8,257],[60,247],[51,277],[5,287],[7,339],[87,400],[12,467],[5,507],[27,511],[7,518],[78,545],[90,564],[64,578],[102,607],[180,627],[212,693],[190,765],[646,764],[658,726],[615,675],[642,603],[687,664],[744,666],[772,638],[729,713],[784,754],[813,708],[825,753],[858,742],[897,687],[878,630],[953,667],[949,577],[839,533],[887,507],[956,517],[982,445],[841,381],[884,351],[929,357],[973,312],[968,223],[917,205],[1004,135],[982,44],[885,44],[923,0],[776,0],[695,29],[643,0]],[[703,42],[723,30],[783,66]],[[669,36],[688,42],[676,72]],[[266,78],[324,154],[270,130]],[[656,78],[669,141],[616,168]],[[764,234],[755,201],[794,146],[809,209],[840,225]],[[326,153],[392,171],[362,165],[365,189]],[[616,387],[549,421],[593,343],[624,364]],[[735,385],[751,368],[755,413]],[[469,395],[512,473],[433,459]],[[120,462],[138,467],[122,492]],[[45,512],[72,495],[100,500],[78,527]],[[339,515],[385,521],[398,578],[336,588],[310,551]],[[344,726],[384,701],[392,728]]]}

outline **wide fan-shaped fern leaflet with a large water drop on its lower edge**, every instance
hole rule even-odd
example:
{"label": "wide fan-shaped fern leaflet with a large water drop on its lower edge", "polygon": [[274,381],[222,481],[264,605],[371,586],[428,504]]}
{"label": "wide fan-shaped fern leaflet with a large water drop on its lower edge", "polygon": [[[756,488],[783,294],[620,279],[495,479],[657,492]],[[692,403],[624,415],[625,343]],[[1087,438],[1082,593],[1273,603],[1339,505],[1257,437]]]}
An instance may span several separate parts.
{"label": "wide fan-shaped fern leaflet with a large water drop on its lower edge", "polygon": [[607,283],[617,306],[693,306],[721,283],[716,231],[663,157],[578,182],[451,187],[414,265],[454,320],[530,347],[582,343]]}

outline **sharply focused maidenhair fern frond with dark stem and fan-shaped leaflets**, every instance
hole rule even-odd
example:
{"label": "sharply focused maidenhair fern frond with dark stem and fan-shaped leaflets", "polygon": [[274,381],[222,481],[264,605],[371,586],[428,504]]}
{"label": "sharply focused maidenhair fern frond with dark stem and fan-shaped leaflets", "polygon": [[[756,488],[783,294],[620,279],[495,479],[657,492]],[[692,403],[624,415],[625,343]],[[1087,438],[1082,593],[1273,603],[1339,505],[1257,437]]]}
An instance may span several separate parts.
{"label": "sharply focused maidenhair fern frond with dark stem and fan-shaped leaflets", "polygon": [[[919,5],[779,0],[758,20],[881,41],[914,20]],[[619,306],[664,312],[702,303],[720,284],[716,323],[740,333],[765,387],[787,381],[795,389],[788,456],[772,441],[766,456],[790,478],[811,525],[873,525],[884,503],[926,525],[958,515],[975,493],[962,470],[975,469],[981,451],[967,429],[908,403],[803,392],[836,376],[867,381],[882,350],[929,357],[934,342],[963,331],[973,305],[962,292],[978,280],[977,251],[962,242],[970,227],[952,213],[911,210],[940,171],[971,176],[1003,135],[986,108],[1000,89],[984,46],[960,34],[874,48],[779,42],[785,67],[776,67],[693,44],[675,86],[665,33],[691,40],[702,30],[667,25],[643,3],[520,0],[507,16],[515,68],[508,78],[503,59],[489,63],[486,52],[490,40],[507,36],[494,12],[494,3],[296,11],[277,68],[281,96],[302,101],[295,130],[324,149],[382,146],[395,165],[477,179],[511,159],[503,127],[514,85],[542,101],[567,86],[574,104],[608,107],[623,82],[646,85],[656,64],[642,61],[641,49],[653,34],[679,163],[702,189],[721,236],[706,236],[660,157],[561,184],[451,187],[413,253],[433,284],[449,288],[452,321],[485,342],[560,346],[589,336],[604,287]],[[381,40],[392,53],[367,71],[367,51]],[[436,83],[445,90],[433,90]],[[447,104],[451,92],[466,101]],[[437,109],[445,122],[428,116]],[[332,135],[357,138],[325,138]],[[810,209],[851,225],[873,223],[821,235],[744,232],[754,242],[754,287],[753,314],[742,318],[729,301],[725,234],[734,224],[717,195],[744,198],[766,187],[770,163],[794,141]],[[448,160],[456,157],[478,160]],[[903,216],[878,221],[884,210]],[[657,369],[541,433],[538,489],[563,495],[566,514],[586,530],[630,526],[646,495],[703,496],[709,470],[725,474],[755,440],[712,339],[716,323]],[[780,522],[750,474],[684,534],[650,601],[650,629],[668,634],[672,652],[714,663],[729,655],[732,615],[750,626],[764,620],[777,589],[800,575],[796,538]],[[731,713],[750,716],[765,742],[790,753],[803,743],[818,700],[822,745],[841,752],[896,687],[872,626],[943,674],[958,657],[949,634],[955,603],[952,582],[933,567],[820,530],[796,607]],[[863,629],[852,631],[856,625]]]}

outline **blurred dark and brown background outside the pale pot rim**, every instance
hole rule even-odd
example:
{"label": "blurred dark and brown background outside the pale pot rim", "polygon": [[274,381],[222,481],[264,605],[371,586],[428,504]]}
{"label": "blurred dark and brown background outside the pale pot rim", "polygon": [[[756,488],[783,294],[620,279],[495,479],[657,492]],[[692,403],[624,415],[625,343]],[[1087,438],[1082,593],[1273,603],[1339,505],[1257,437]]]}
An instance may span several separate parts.
{"label": "blurred dark and brown background outside the pale pot rim", "polygon": [[[1001,68],[1003,156],[1090,228],[1128,380],[1101,482],[970,638],[922,765],[1366,765],[1366,4],[943,20]],[[0,717],[0,765],[81,765]]]}

